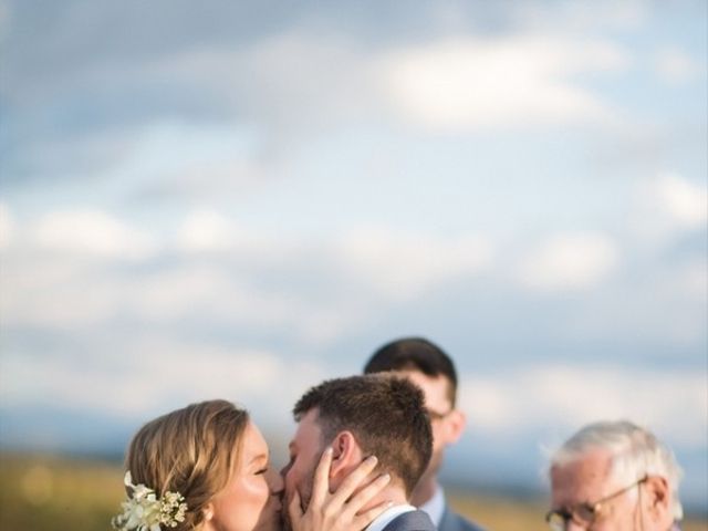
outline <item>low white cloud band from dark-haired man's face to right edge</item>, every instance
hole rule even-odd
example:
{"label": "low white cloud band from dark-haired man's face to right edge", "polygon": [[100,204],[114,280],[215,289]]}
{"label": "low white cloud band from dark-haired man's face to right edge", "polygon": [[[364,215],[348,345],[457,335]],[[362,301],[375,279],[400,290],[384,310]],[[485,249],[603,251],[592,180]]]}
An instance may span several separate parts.
{"label": "low white cloud band from dark-haired man's face to right edge", "polygon": [[521,367],[503,376],[462,375],[470,430],[511,437],[539,427],[571,430],[628,418],[684,447],[708,442],[708,383],[701,371],[621,365]]}

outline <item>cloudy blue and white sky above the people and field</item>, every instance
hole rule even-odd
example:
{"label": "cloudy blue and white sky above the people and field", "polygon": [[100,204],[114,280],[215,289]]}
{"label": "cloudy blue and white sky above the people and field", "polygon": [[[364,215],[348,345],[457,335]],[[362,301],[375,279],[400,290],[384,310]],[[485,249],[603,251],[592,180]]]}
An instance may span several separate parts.
{"label": "cloudy blue and white sky above the people and field", "polygon": [[548,491],[629,418],[708,511],[700,1],[0,0],[0,446],[122,451],[195,400],[281,455],[406,335],[444,477]]}

